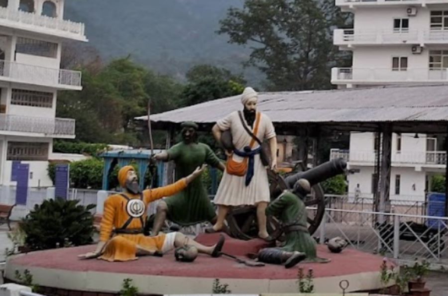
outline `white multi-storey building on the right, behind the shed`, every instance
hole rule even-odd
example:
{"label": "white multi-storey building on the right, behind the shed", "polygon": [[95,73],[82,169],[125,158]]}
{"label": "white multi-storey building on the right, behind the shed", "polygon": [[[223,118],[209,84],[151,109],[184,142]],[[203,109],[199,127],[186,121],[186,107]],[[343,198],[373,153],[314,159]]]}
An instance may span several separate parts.
{"label": "white multi-storey building on the right, behind the shed", "polygon": [[[353,13],[354,26],[334,31],[334,44],[353,53],[352,68],[332,69],[338,88],[448,84],[447,0],[336,0],[336,5]],[[425,200],[431,175],[445,173],[445,141],[436,135],[393,134],[392,200]],[[349,176],[349,193],[372,197],[374,134],[351,133],[349,152],[331,153],[359,169]]]}

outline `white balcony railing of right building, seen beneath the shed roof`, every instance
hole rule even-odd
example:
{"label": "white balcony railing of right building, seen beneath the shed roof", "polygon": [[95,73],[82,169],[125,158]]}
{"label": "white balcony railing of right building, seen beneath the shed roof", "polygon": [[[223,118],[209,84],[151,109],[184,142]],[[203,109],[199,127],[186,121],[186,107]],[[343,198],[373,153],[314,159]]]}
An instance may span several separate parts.
{"label": "white balcony railing of right building, seen beneath the shed roof", "polygon": [[[345,161],[370,163],[375,161],[374,151],[348,151],[343,149],[331,149],[330,158],[343,158]],[[446,165],[447,153],[444,151],[427,152],[395,152],[391,155],[392,163],[401,164],[428,164],[428,165]]]}

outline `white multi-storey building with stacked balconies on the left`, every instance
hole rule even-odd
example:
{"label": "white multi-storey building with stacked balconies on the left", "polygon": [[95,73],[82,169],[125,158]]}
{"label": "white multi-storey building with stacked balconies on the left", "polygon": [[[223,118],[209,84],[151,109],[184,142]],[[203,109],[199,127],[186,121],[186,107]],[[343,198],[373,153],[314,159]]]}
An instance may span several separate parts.
{"label": "white multi-storey building with stacked balconies on the left", "polygon": [[61,45],[87,38],[63,11],[63,0],[0,0],[0,185],[19,160],[30,187],[51,186],[53,139],[75,137],[75,120],[55,117],[57,91],[82,89],[81,72],[59,68]]}

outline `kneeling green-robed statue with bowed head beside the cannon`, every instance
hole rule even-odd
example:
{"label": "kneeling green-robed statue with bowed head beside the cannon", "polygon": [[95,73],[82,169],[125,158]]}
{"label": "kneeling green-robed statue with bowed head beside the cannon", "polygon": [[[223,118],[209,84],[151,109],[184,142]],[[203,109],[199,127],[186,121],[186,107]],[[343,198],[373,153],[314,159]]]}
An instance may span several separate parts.
{"label": "kneeling green-robed statue with bowed head beside the cannon", "polygon": [[307,208],[302,200],[311,190],[310,183],[300,179],[293,191],[284,191],[269,203],[266,215],[277,217],[285,234],[284,245],[277,248],[265,248],[258,252],[258,261],[272,264],[284,264],[291,268],[307,259],[312,262],[328,262],[316,255],[316,241],[308,232]]}

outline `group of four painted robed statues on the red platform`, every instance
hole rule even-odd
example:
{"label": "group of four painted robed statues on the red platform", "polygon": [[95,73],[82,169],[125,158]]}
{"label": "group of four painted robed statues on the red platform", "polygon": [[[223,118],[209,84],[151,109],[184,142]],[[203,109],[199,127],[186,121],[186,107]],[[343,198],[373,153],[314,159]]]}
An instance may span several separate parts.
{"label": "group of four painted robed statues on the red platform", "polygon": [[[283,264],[286,268],[305,259],[325,261],[318,258],[316,241],[307,226],[304,198],[311,192],[313,181],[290,178],[287,190],[271,196],[268,171],[276,169],[276,133],[270,118],[257,111],[257,101],[257,93],[246,88],[241,94],[242,110],[230,113],[213,126],[213,135],[227,156],[225,164],[208,145],[198,142],[198,125],[187,121],[181,124],[182,141],[153,156],[156,161],[175,163],[175,183],[141,191],[133,167],[122,167],[118,181],[123,191],[105,201],[100,242],[93,252],[79,257],[130,261],[142,255],[163,256],[172,249],[178,261],[191,262],[198,253],[219,257],[224,246],[223,235],[216,244],[204,246],[180,232],[163,233],[165,220],[182,226],[208,221],[213,226],[206,229],[207,233],[226,232],[225,219],[231,208],[253,206],[257,236],[273,247],[260,250],[252,259]],[[201,180],[206,165],[223,171],[213,202]],[[146,236],[147,208],[157,199],[161,200],[153,227]],[[279,221],[276,235],[268,233],[267,216]],[[280,234],[282,243],[276,245]]]}

